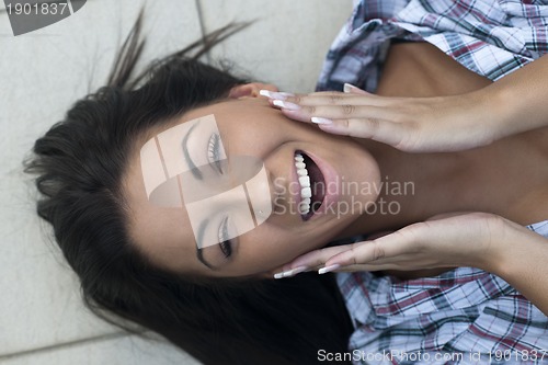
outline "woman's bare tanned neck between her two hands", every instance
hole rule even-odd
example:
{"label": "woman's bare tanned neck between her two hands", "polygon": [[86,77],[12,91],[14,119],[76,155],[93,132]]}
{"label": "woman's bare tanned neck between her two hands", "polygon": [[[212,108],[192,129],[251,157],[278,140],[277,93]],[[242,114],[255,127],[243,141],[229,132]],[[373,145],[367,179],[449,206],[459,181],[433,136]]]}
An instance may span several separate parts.
{"label": "woman's bare tanned neck between her two hands", "polygon": [[522,139],[509,138],[488,147],[447,153],[406,153],[376,141],[359,140],[379,166],[379,195],[375,205],[339,238],[393,231],[456,212],[493,213],[520,224],[546,219],[546,212],[537,210],[539,214],[533,216],[524,203],[524,157],[507,152],[523,150]]}

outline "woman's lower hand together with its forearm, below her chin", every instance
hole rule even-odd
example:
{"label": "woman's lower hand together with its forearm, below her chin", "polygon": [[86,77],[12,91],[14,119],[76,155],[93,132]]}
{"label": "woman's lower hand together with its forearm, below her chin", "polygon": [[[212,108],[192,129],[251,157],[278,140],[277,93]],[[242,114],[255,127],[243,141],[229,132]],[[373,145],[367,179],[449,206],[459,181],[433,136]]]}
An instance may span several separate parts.
{"label": "woman's lower hand together with its forearm, below her chin", "polygon": [[512,285],[548,316],[548,239],[486,213],[436,216],[380,238],[308,252],[276,278],[319,273],[472,266]]}

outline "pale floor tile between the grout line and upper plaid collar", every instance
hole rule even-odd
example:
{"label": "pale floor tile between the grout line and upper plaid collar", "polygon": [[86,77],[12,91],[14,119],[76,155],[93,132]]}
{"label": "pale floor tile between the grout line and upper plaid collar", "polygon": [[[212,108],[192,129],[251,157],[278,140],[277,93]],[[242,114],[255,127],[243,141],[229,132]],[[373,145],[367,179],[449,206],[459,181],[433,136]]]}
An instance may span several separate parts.
{"label": "pale floor tile between the grout line and upper plaid collar", "polygon": [[279,89],[313,91],[323,57],[352,11],[351,0],[199,0],[212,32],[231,21],[255,23],[212,55]]}

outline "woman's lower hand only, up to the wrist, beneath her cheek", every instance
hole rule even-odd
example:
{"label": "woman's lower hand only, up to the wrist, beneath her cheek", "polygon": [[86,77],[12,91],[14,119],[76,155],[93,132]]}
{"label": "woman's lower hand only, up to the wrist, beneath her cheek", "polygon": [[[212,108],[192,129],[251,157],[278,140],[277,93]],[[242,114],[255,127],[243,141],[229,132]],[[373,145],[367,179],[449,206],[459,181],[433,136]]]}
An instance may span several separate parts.
{"label": "woman's lower hand only, up to the wrist, beneath her cheek", "polygon": [[320,273],[457,266],[491,271],[501,262],[505,225],[504,218],[492,214],[439,215],[374,240],[308,252],[275,277],[318,267]]}

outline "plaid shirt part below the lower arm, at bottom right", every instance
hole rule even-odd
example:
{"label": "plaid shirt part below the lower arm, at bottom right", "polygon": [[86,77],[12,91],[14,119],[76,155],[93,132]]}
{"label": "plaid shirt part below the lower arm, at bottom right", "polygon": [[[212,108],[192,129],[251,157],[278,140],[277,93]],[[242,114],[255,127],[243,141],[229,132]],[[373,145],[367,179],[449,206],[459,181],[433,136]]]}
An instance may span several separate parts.
{"label": "plaid shirt part below the lower arm, at bottom right", "polygon": [[[548,220],[527,228],[548,238]],[[355,327],[354,364],[548,364],[548,318],[496,275],[458,267],[336,280]]]}

